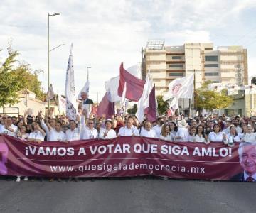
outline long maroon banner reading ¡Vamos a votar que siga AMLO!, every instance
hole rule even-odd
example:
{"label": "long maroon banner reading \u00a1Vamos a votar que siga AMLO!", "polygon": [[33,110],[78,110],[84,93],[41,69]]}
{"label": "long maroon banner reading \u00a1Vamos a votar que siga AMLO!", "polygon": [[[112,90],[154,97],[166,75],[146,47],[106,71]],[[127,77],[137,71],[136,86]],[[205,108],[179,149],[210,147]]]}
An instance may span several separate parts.
{"label": "long maroon banner reading \u00a1Vamos a votar que siga AMLO!", "polygon": [[[168,142],[124,136],[112,140],[32,143],[0,136],[0,175],[126,177],[244,181],[256,164],[243,162],[256,145]],[[248,149],[249,148],[249,149]],[[246,151],[252,153],[246,153]],[[256,158],[256,157],[255,157]],[[248,160],[248,159],[247,159]],[[255,160],[256,161],[256,160]],[[245,172],[244,172],[245,170]],[[245,177],[244,177],[245,176]]]}

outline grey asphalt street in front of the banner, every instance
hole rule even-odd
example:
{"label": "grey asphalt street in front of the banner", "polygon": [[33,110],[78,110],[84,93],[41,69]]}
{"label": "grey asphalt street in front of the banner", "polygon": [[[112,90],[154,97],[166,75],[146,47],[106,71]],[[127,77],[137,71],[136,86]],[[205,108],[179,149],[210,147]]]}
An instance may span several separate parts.
{"label": "grey asphalt street in front of the banner", "polygon": [[0,180],[0,212],[253,212],[256,184],[98,179],[85,182]]}

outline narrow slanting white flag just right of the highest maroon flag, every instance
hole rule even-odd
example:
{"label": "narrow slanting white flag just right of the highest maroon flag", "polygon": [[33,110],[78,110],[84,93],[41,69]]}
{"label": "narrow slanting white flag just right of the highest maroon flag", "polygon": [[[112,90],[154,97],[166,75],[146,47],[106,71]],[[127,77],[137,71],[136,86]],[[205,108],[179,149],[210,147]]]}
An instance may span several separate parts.
{"label": "narrow slanting white flag just right of the highest maroon flag", "polygon": [[138,109],[136,112],[136,116],[139,120],[139,122],[142,122],[144,119],[144,110],[146,107],[149,107],[149,94],[153,88],[153,81],[149,80],[150,72],[146,75],[146,83],[144,84],[144,89],[142,92],[142,97],[139,99],[139,102],[137,104]]}

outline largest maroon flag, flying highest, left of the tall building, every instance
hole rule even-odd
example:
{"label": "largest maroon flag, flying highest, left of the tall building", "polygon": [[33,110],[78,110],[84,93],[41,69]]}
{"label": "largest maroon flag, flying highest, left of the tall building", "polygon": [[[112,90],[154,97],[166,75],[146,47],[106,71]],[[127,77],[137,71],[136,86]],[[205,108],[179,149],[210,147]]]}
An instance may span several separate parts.
{"label": "largest maroon flag, flying highest, left of the tall building", "polygon": [[118,87],[118,95],[122,97],[124,83],[126,82],[127,92],[125,97],[131,101],[137,102],[142,97],[145,81],[141,80],[131,73],[124,70],[123,63],[120,65],[120,80]]}

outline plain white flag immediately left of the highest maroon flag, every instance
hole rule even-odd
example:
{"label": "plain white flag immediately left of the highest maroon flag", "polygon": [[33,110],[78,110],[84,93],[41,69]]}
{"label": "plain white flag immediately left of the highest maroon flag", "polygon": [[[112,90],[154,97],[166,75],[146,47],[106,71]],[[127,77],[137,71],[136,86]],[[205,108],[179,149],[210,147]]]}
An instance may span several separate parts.
{"label": "plain white flag immediately left of the highest maroon flag", "polygon": [[107,98],[110,102],[120,102],[122,97],[118,95],[119,76],[112,77],[110,80],[105,82],[105,88],[107,91]]}

